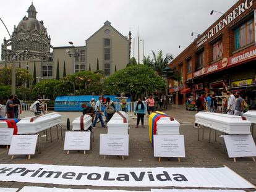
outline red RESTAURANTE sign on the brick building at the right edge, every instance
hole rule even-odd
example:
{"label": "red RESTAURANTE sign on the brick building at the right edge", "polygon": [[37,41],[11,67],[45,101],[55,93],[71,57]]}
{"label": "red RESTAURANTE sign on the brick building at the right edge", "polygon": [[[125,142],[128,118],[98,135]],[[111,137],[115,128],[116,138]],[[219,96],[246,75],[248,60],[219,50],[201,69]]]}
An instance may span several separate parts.
{"label": "red RESTAURANTE sign on the brick building at the right edge", "polygon": [[234,56],[229,57],[228,65],[238,64],[239,62],[247,61],[256,57],[256,47],[246,49],[245,51],[234,54]]}

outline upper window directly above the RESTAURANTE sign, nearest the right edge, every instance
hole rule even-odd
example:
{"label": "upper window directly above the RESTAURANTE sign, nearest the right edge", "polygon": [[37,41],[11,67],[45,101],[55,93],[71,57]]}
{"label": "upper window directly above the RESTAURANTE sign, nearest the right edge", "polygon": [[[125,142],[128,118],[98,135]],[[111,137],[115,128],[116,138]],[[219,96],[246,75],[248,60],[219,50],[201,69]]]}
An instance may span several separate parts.
{"label": "upper window directly above the RESTAURANTE sign, nearest the right edge", "polygon": [[252,20],[249,20],[234,31],[236,50],[254,42],[254,27],[252,23]]}

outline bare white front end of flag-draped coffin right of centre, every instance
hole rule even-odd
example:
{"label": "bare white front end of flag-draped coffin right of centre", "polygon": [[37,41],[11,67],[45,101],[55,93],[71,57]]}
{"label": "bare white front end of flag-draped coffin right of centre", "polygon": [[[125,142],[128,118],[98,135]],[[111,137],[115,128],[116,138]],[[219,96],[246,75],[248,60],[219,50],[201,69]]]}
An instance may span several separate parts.
{"label": "bare white front end of flag-draped coffin right of centre", "polygon": [[170,120],[169,117],[162,117],[156,122],[156,131],[158,134],[179,135],[180,123],[177,120]]}

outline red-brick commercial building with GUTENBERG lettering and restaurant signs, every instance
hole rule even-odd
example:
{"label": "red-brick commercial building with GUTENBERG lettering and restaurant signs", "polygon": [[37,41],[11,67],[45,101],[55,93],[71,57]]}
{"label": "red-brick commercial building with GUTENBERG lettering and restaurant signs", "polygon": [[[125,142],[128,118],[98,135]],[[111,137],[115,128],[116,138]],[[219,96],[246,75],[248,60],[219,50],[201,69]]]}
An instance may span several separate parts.
{"label": "red-brick commercial building with GUTENBERG lettering and restaurant signs", "polygon": [[237,1],[169,64],[182,75],[181,82],[169,81],[174,103],[185,104],[203,90],[255,97],[255,9],[255,0]]}

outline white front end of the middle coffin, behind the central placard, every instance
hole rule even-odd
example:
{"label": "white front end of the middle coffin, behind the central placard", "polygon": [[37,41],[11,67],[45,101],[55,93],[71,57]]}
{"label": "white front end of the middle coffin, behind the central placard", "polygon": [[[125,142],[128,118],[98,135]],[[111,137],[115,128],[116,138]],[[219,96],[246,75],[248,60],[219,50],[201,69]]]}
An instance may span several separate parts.
{"label": "white front end of the middle coffin, behind the central placard", "polygon": [[128,134],[128,123],[124,123],[123,119],[112,119],[108,122],[108,133]]}

